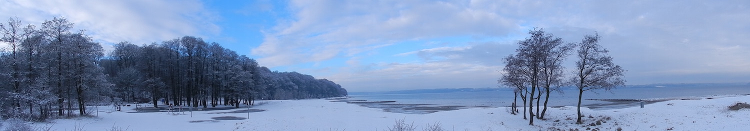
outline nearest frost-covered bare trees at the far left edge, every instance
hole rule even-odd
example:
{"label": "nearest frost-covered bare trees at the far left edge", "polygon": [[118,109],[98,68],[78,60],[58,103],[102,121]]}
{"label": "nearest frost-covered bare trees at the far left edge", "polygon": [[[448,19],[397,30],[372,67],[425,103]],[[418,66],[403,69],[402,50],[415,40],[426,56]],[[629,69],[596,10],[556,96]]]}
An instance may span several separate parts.
{"label": "nearest frost-covered bare trees at the far left edge", "polygon": [[7,75],[0,75],[7,76],[2,83],[8,84],[0,85],[7,101],[0,104],[3,117],[43,120],[55,100],[58,115],[65,115],[66,105],[68,115],[74,109],[86,115],[86,102],[109,95],[109,82],[98,64],[104,49],[83,31],[71,33],[73,23],[54,18],[39,30],[34,25],[20,28],[17,19],[8,23],[1,29],[2,41],[11,46],[0,57],[1,70],[7,70]]}

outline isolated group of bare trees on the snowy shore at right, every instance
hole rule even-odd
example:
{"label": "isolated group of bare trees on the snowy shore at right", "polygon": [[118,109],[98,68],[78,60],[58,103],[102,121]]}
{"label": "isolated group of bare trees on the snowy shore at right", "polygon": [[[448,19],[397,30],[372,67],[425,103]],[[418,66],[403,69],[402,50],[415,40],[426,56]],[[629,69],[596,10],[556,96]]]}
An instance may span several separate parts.
{"label": "isolated group of bare trees on the snowy shore at right", "polygon": [[[582,124],[580,102],[583,91],[610,90],[625,84],[621,78],[625,70],[613,64],[613,58],[607,55],[609,51],[598,44],[601,38],[598,34],[586,35],[580,43],[566,43],[543,28],[534,28],[529,34],[530,37],[518,42],[516,54],[503,58],[505,67],[498,82],[514,88],[511,113],[520,113],[516,102],[520,97],[523,104],[521,114],[530,125],[534,124],[534,119],[544,119],[550,94],[560,91],[563,86],[578,89],[576,123]],[[565,73],[562,64],[574,49],[577,49],[578,61],[572,73]],[[566,77],[568,75],[572,77]]]}

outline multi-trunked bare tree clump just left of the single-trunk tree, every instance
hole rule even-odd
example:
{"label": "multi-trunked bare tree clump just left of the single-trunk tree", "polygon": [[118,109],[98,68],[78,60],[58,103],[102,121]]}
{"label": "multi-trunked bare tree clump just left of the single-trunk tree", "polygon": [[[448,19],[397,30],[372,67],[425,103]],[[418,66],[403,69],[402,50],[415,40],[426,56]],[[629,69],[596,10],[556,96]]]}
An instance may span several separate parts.
{"label": "multi-trunked bare tree clump just left of the single-trunk tree", "polygon": [[[523,100],[529,103],[526,108],[529,109],[531,117],[529,124],[533,125],[533,118],[544,118],[550,92],[562,85],[562,61],[574,45],[563,43],[562,38],[544,32],[543,28],[534,28],[529,34],[531,37],[518,42],[516,55],[505,57],[505,68],[502,69],[505,74],[499,82],[520,90],[521,98],[525,97]],[[547,95],[544,98],[544,107],[540,107],[543,94]],[[534,102],[537,106],[536,113],[533,111]],[[540,108],[544,109],[541,110],[541,114]]]}

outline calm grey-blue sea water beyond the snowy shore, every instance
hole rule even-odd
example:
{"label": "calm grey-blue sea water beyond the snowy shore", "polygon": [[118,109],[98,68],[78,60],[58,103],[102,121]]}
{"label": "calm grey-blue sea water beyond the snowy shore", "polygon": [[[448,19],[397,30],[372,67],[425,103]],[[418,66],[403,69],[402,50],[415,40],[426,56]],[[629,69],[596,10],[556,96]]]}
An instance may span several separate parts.
{"label": "calm grey-blue sea water beyond the snowy shore", "polygon": [[[703,87],[662,87],[662,88],[616,88],[612,91],[584,92],[582,105],[597,105],[610,102],[586,99],[681,99],[709,97],[716,95],[750,94],[750,85],[703,86]],[[512,91],[479,91],[437,94],[377,94],[351,96],[354,100],[397,101],[400,104],[435,104],[437,106],[511,106]],[[518,103],[521,103],[518,98]],[[575,106],[577,90],[568,89],[550,95],[548,106]],[[520,105],[520,104],[519,104]],[[638,106],[625,104],[598,107],[600,109]]]}

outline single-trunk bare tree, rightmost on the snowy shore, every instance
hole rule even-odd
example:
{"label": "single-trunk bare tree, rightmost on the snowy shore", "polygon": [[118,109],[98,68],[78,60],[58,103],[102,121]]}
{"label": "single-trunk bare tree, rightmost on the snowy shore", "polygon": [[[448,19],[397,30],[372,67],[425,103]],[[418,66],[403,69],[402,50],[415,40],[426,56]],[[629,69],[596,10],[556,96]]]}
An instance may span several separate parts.
{"label": "single-trunk bare tree, rightmost on the snowy shore", "polygon": [[586,35],[578,46],[578,61],[575,62],[576,77],[571,82],[578,88],[578,117],[576,124],[583,124],[580,115],[580,100],[583,91],[593,89],[610,90],[625,85],[621,77],[625,73],[622,67],[612,63],[612,57],[607,55],[607,49],[598,44],[601,37],[598,34]]}

